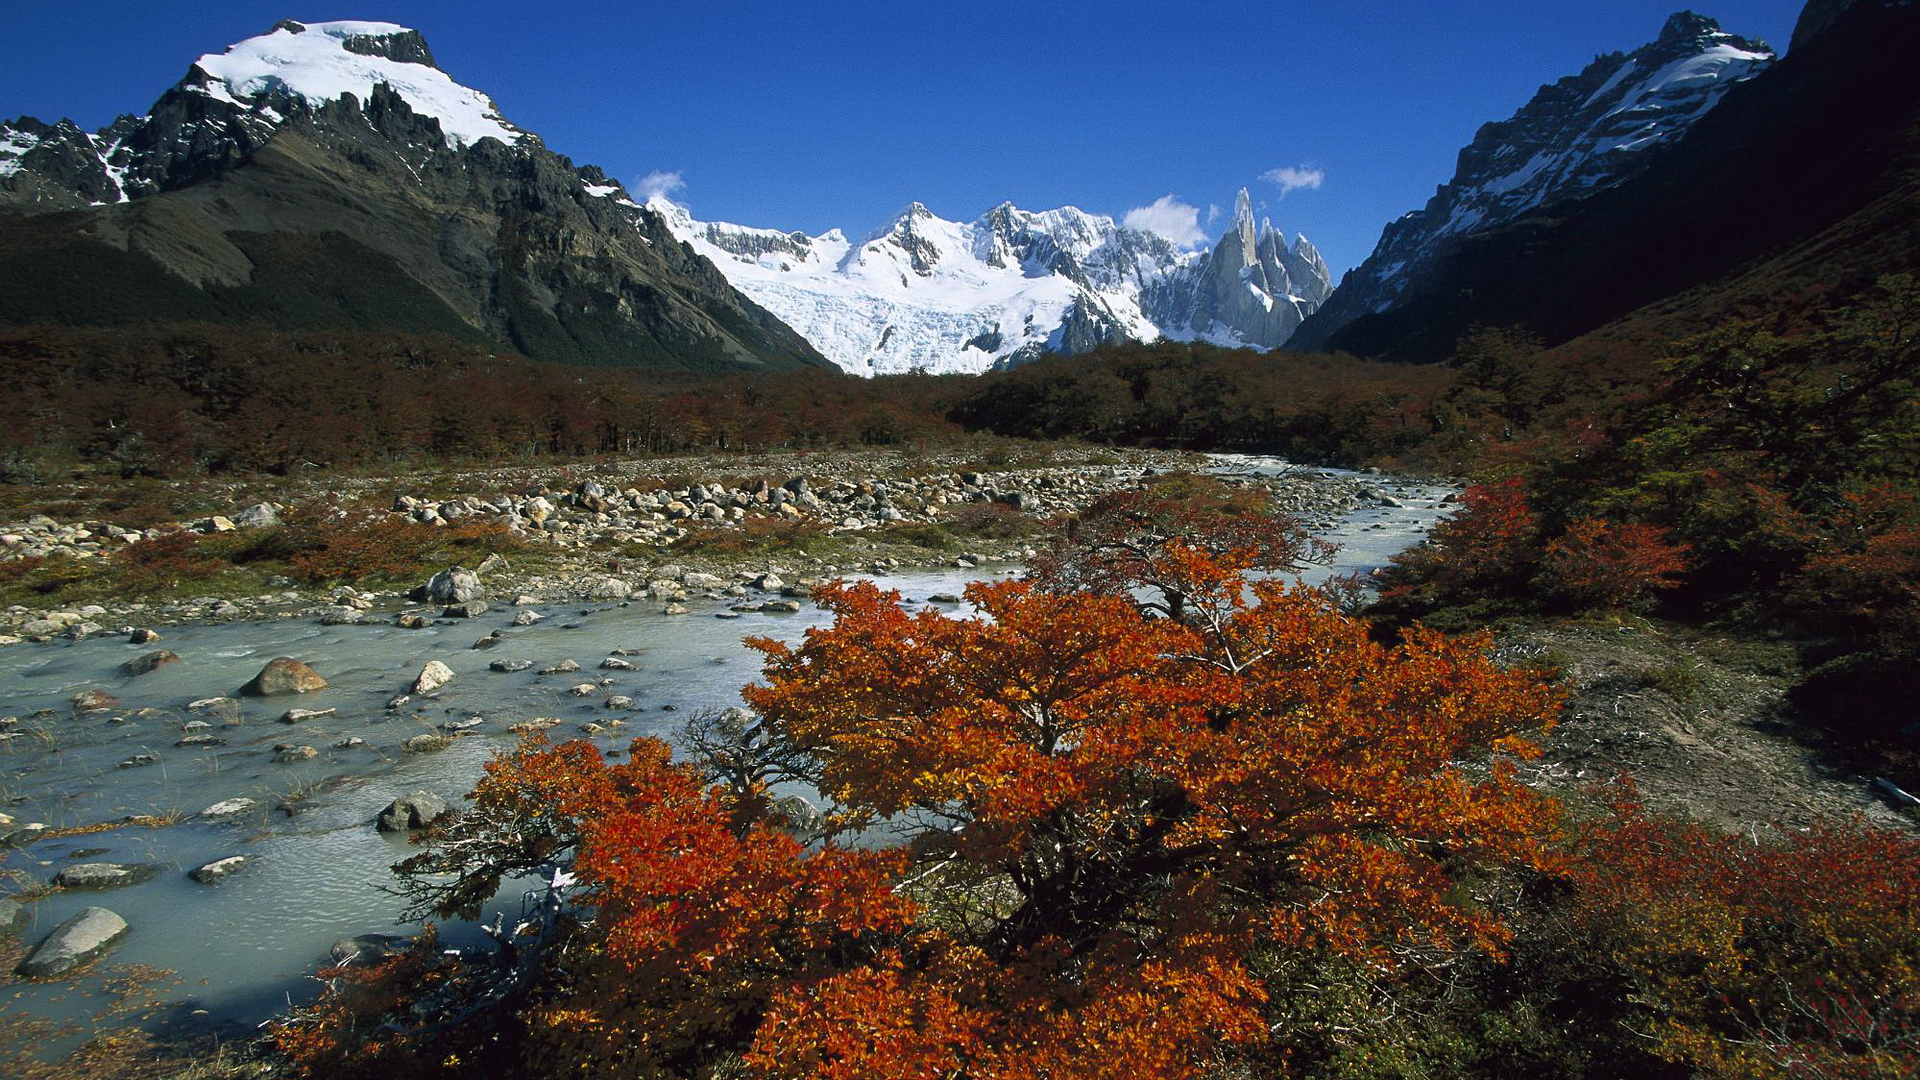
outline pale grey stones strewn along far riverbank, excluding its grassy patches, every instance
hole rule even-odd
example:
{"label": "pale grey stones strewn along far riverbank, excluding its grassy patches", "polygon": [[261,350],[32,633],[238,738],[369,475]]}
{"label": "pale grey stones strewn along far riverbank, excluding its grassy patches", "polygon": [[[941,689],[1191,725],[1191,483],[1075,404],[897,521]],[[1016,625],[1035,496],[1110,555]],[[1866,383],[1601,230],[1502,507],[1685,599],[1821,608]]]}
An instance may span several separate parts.
{"label": "pale grey stones strewn along far riverbank, excluding its grassy patches", "polygon": [[[394,519],[428,527],[495,523],[530,544],[532,557],[488,559],[472,567],[486,575],[495,598],[645,598],[674,603],[684,600],[676,594],[730,590],[768,571],[768,559],[755,552],[682,550],[678,544],[695,530],[707,536],[726,536],[728,530],[745,534],[756,523],[776,521],[837,536],[841,542],[831,557],[785,559],[791,565],[781,573],[803,578],[1014,561],[1027,553],[1031,540],[983,540],[962,552],[933,552],[900,536],[906,527],[941,525],[970,507],[1000,507],[1044,523],[1075,513],[1100,496],[1139,488],[1156,475],[1217,469],[1219,463],[1192,454],[1144,450],[1056,452],[1054,461],[1039,467],[900,454],[653,459],[564,477],[532,469],[468,473],[444,480],[445,490],[394,494],[382,509]],[[1331,528],[1359,509],[1392,507],[1407,492],[1400,480],[1323,469],[1242,469],[1227,479],[1265,488],[1279,507],[1319,528]],[[334,498],[348,503],[384,486],[390,484],[342,484]],[[271,528],[284,509],[284,503],[255,502],[230,513],[148,528],[29,515],[0,525],[0,565],[8,559],[100,559],[175,528],[200,534]],[[691,588],[685,575],[699,575]],[[405,600],[403,590],[313,590],[290,578],[265,584],[271,592],[165,601],[102,598],[100,603],[71,607],[13,605],[0,617],[0,644],[77,640],[192,621],[361,621],[367,611]]]}

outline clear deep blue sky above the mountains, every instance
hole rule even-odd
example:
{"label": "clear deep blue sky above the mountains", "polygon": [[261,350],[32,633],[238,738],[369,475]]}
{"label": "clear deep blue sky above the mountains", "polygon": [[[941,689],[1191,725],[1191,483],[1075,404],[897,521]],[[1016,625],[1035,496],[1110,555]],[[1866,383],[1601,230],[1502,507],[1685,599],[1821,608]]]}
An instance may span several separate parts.
{"label": "clear deep blue sky above the mountains", "polygon": [[[1334,271],[1421,206],[1475,129],[1676,0],[1144,4],[238,0],[36,4],[6,17],[0,113],[100,127],[204,52],[282,17],[419,29],[515,123],[637,188],[678,175],[703,219],[862,234],[908,202],[1125,217],[1252,188]],[[1786,50],[1801,0],[1699,4]],[[1290,173],[1288,173],[1290,171]],[[1284,190],[1290,177],[1292,190]],[[1311,186],[1317,183],[1317,186]],[[1215,219],[1210,234],[1225,219]]]}

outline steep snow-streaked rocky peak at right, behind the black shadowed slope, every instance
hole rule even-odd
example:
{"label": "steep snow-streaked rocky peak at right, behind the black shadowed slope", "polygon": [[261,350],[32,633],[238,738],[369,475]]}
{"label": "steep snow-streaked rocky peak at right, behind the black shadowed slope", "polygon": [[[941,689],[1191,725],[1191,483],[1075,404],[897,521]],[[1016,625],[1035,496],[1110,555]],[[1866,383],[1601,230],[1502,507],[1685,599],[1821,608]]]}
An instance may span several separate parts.
{"label": "steep snow-streaked rocky peak at right, behind the black shadowed slope", "polygon": [[1772,61],[1766,42],[1680,12],[1651,44],[1599,56],[1578,75],[1542,86],[1511,117],[1480,127],[1459,152],[1453,179],[1380,233],[1373,256],[1340,282],[1294,348],[1321,348],[1346,323],[1392,307],[1450,238],[1626,181],[1651,150],[1676,140],[1728,88]]}

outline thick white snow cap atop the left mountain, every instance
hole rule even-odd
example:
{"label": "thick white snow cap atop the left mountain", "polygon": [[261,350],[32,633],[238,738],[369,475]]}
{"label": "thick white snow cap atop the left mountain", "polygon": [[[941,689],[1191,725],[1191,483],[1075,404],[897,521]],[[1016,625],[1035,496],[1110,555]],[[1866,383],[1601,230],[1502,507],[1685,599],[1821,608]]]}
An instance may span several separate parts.
{"label": "thick white snow cap atop the left mountain", "polygon": [[204,92],[236,104],[267,90],[288,90],[315,106],[342,94],[365,102],[374,86],[386,83],[413,111],[436,117],[455,146],[482,138],[513,144],[524,136],[486,94],[461,86],[438,67],[346,48],[348,38],[403,33],[409,33],[407,27],[367,21],[305,23],[298,33],[280,27],[227,52],[209,52],[194,65],[209,79]]}

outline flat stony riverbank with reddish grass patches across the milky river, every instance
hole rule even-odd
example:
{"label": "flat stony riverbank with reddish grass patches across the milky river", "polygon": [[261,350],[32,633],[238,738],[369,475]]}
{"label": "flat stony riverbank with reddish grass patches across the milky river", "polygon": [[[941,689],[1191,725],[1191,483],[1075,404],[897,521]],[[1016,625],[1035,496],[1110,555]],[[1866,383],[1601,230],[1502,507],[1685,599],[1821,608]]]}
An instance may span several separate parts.
{"label": "flat stony riverbank with reddish grass patches across the milky river", "polygon": [[[401,605],[426,573],[444,569],[422,561],[420,548],[484,567],[495,598],[538,603],[672,601],[674,590],[653,582],[687,573],[732,586],[762,573],[791,580],[1018,561],[1048,523],[1100,496],[1213,465],[1183,452],[1089,448],[1052,448],[1033,461],[958,452],[670,457],[430,482],[357,479],[146,527],[38,513],[0,525],[0,596],[10,600],[0,644],[196,621],[351,621]],[[1229,482],[1260,486],[1321,528],[1396,502],[1390,482],[1319,469]],[[301,561],[342,515],[361,515],[351,538],[359,548],[321,548]],[[159,569],[129,557],[163,538],[182,553]]]}

